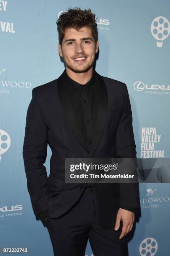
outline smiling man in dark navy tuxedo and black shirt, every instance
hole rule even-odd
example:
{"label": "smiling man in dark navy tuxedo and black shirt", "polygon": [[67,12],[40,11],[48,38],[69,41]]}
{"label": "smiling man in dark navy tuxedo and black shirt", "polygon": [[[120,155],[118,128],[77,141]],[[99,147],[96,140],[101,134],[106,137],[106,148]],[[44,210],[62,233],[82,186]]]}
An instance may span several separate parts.
{"label": "smiling man in dark navy tuxedo and black shirt", "polygon": [[90,9],[69,9],[57,26],[66,69],[33,89],[26,118],[23,158],[33,210],[54,255],[83,256],[89,238],[95,256],[126,256],[139,184],[65,183],[65,158],[136,158],[127,86],[93,69],[99,41]]}

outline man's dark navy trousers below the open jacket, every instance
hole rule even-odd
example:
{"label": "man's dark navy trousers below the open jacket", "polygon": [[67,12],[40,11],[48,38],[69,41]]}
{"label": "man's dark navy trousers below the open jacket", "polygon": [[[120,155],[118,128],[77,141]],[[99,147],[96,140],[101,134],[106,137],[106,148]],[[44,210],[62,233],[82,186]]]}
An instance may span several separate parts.
{"label": "man's dark navy trousers below the open jacket", "polygon": [[46,227],[54,256],[84,256],[88,238],[95,256],[128,256],[127,236],[119,240],[122,221],[117,231],[114,226],[99,224],[92,187],[87,187],[79,202],[62,217],[48,215]]}

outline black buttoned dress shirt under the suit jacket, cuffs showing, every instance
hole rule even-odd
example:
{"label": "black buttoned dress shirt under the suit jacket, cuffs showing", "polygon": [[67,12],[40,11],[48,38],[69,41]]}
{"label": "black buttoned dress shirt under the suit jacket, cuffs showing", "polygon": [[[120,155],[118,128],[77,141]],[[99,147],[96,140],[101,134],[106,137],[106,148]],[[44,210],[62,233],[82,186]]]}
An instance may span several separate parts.
{"label": "black buttoned dress shirt under the suit jacket, cuffs showing", "polygon": [[[95,72],[93,70],[92,77],[86,84],[79,84],[71,79],[66,73],[66,69],[64,74],[66,79],[66,90],[69,90],[74,114],[86,143],[86,147],[89,149],[93,143],[93,134],[99,105],[98,98],[96,97],[96,88],[98,84],[96,82]],[[92,183],[86,183],[86,187],[92,187]],[[137,208],[123,209],[134,213],[137,212]],[[44,221],[47,215],[48,210],[39,214],[42,221]]]}

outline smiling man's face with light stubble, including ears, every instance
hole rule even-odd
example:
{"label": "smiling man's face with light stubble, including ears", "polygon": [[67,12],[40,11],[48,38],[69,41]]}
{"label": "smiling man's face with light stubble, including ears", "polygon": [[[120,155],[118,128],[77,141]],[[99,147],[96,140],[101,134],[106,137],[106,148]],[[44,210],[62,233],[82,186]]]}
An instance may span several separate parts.
{"label": "smiling man's face with light stubble, including ears", "polygon": [[58,44],[66,69],[75,73],[87,72],[92,68],[98,48],[99,41],[95,44],[91,29],[86,26],[79,31],[67,28],[62,45]]}

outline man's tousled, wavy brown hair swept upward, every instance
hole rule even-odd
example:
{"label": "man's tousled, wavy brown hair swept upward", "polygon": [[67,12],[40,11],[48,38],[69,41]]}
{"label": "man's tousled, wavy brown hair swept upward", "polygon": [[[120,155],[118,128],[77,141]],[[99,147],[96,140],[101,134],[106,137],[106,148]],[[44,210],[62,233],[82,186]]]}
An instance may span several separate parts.
{"label": "man's tousled, wavy brown hair swept upward", "polygon": [[98,30],[95,14],[91,12],[91,9],[81,10],[80,8],[69,8],[68,11],[64,11],[57,20],[58,41],[62,45],[64,38],[64,31],[66,28],[74,28],[79,31],[80,28],[86,26],[91,28],[92,35],[95,43],[98,40]]}

